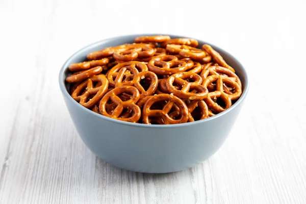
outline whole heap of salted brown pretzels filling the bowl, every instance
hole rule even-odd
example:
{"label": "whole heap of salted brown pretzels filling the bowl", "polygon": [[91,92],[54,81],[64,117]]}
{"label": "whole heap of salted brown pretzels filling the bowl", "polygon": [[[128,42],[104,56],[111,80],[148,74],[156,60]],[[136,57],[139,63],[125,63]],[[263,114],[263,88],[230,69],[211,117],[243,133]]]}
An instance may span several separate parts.
{"label": "whole heap of salted brown pretzels filling the bowl", "polygon": [[107,117],[144,124],[205,119],[242,94],[234,68],[210,45],[170,36],[141,36],[71,64],[70,95]]}

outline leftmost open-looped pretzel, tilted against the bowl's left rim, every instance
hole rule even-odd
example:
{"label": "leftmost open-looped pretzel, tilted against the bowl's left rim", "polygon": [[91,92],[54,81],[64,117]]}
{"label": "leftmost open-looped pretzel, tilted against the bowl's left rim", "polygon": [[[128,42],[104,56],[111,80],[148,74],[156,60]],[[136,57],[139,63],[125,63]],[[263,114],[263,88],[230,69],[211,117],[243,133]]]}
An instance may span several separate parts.
{"label": "leftmost open-looped pretzel, tilted against the bowl's left rim", "polygon": [[[93,83],[99,83],[98,86],[94,86]],[[85,82],[80,84],[72,92],[71,97],[78,101],[85,108],[92,108],[98,101],[105,95],[108,89],[109,82],[105,75],[95,75]],[[91,98],[90,98],[91,96]]]}

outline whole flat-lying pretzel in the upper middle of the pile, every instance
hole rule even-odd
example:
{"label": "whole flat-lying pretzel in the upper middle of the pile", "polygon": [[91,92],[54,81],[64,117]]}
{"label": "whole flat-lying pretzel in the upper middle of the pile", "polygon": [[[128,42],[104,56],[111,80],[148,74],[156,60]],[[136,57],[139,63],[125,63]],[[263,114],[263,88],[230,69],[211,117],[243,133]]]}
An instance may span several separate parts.
{"label": "whole flat-lying pretzel in the upper middle of the pile", "polygon": [[172,74],[188,69],[187,63],[172,55],[157,56],[148,62],[148,69],[156,74]]}

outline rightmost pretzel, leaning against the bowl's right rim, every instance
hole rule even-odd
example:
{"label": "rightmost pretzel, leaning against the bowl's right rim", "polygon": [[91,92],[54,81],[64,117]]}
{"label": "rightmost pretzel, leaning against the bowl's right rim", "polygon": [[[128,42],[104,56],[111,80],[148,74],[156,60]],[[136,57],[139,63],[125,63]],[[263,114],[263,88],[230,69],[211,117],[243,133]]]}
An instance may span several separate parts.
{"label": "rightmost pretzel, leaning against the bowl's right rim", "polygon": [[216,90],[220,91],[221,93],[224,93],[223,84],[228,84],[230,85],[230,87],[233,87],[235,90],[234,93],[231,94],[224,93],[225,96],[228,97],[230,100],[236,100],[242,94],[242,90],[239,84],[229,77],[225,77],[223,75],[211,75],[203,81],[202,85],[207,88],[208,85],[211,84],[212,82],[216,82]]}

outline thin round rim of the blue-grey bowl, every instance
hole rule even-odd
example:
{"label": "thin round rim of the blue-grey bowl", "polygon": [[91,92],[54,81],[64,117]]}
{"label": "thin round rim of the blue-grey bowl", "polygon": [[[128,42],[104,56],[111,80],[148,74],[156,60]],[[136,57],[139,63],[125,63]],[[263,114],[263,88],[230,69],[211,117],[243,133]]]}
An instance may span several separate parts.
{"label": "thin round rim of the blue-grey bowl", "polygon": [[[247,72],[244,68],[244,66],[237,60],[237,58],[235,58],[232,54],[226,52],[224,49],[212,44],[212,43],[209,43],[207,41],[203,41],[203,40],[199,40],[197,39],[198,41],[200,42],[203,42],[203,43],[207,43],[209,45],[211,45],[213,48],[217,48],[219,50],[221,50],[223,53],[226,53],[232,60],[234,60],[237,64],[240,65],[241,67],[241,70],[242,70],[242,73],[243,73],[243,76],[245,78],[245,87],[240,98],[235,102],[234,105],[232,105],[230,108],[226,109],[225,111],[221,112],[221,113],[218,113],[214,116],[211,116],[209,118],[206,118],[206,119],[202,119],[202,120],[198,120],[198,121],[193,121],[193,122],[186,122],[186,123],[179,123],[179,124],[167,124],[167,125],[160,125],[160,124],[143,124],[143,123],[134,123],[134,122],[127,122],[127,121],[122,121],[122,120],[117,120],[117,119],[113,119],[113,118],[110,118],[110,117],[107,117],[107,116],[104,116],[104,115],[101,115],[101,114],[98,114],[98,113],[95,113],[87,108],[85,108],[84,106],[80,105],[77,101],[75,101],[71,96],[70,94],[68,93],[67,89],[66,89],[66,86],[65,86],[65,80],[64,80],[64,73],[66,71],[66,69],[68,69],[68,62],[73,59],[75,56],[78,56],[80,52],[82,52],[84,49],[89,49],[89,48],[92,48],[92,47],[95,47],[97,44],[100,44],[100,43],[103,43],[103,42],[107,42],[107,41],[110,41],[110,40],[115,40],[115,39],[118,39],[118,38],[135,38],[137,36],[154,36],[154,35],[169,35],[169,36],[174,36],[175,38],[191,38],[191,37],[186,37],[186,36],[180,36],[180,35],[175,35],[175,34],[154,34],[154,33],[149,33],[149,34],[131,34],[131,35],[120,35],[120,36],[114,36],[114,37],[111,37],[111,38],[106,38],[106,39],[103,39],[103,40],[99,40],[99,41],[96,41],[96,42],[93,42],[81,49],[79,49],[77,52],[75,52],[74,54],[72,54],[66,61],[65,63],[63,64],[62,68],[60,69],[60,73],[59,73],[59,84],[60,84],[60,89],[62,91],[62,94],[68,98],[68,100],[70,100],[72,103],[75,103],[81,110],[85,111],[87,114],[90,114],[92,115],[93,117],[98,117],[100,119],[104,119],[104,120],[108,120],[109,122],[115,122],[115,123],[118,123],[118,124],[122,124],[122,125],[128,125],[128,126],[138,126],[138,127],[160,127],[160,128],[173,128],[173,127],[183,127],[183,126],[189,126],[189,125],[196,125],[196,124],[200,124],[202,122],[208,122],[210,120],[214,120],[214,119],[217,119],[219,117],[222,117],[223,115],[233,111],[236,107],[238,107],[242,101],[245,99],[247,93],[248,93],[248,90],[249,90],[249,79],[248,79],[248,75],[247,75]],[[195,39],[195,38],[194,38]]]}

